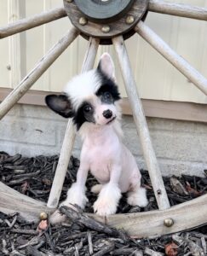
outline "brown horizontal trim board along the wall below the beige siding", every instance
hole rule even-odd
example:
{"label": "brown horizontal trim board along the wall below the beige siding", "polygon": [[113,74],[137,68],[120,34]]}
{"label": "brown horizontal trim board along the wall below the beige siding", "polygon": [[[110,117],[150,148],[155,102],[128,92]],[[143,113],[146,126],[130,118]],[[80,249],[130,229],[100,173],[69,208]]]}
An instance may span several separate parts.
{"label": "brown horizontal trim board along the wall below the beige siding", "polygon": [[[0,102],[9,95],[9,92],[11,90],[12,89],[8,88],[0,88]],[[45,106],[44,97],[51,93],[53,92],[29,90],[18,103]],[[207,104],[198,104],[193,102],[170,102],[147,99],[141,99],[141,102],[147,117],[207,123]],[[122,108],[124,114],[132,114],[128,98],[123,98]]]}

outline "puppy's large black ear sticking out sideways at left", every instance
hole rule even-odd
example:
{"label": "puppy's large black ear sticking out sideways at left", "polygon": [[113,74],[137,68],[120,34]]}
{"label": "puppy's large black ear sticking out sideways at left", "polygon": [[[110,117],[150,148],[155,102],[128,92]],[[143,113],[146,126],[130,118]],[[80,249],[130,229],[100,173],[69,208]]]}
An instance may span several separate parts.
{"label": "puppy's large black ear sticking out sideways at left", "polygon": [[64,94],[51,94],[45,97],[45,102],[55,113],[59,113],[65,118],[72,118],[72,103]]}

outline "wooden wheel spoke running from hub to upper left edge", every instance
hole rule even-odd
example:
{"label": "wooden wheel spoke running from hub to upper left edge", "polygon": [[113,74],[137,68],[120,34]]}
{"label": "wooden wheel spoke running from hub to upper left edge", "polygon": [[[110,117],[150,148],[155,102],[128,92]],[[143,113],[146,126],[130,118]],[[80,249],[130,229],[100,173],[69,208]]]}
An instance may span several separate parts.
{"label": "wooden wheel spoke running from hub to upper left edge", "polygon": [[40,15],[18,20],[7,26],[0,27],[0,38],[6,38],[19,32],[26,31],[35,26],[40,26],[53,20],[66,17],[66,11],[63,7],[55,8]]}

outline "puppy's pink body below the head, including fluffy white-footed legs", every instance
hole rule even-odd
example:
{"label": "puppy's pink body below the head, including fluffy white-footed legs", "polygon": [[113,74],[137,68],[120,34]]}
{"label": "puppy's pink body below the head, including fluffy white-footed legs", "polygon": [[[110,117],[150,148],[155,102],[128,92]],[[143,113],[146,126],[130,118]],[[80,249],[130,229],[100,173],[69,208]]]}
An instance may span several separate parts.
{"label": "puppy's pink body below the head, including fluffy white-footed legs", "polygon": [[[147,206],[146,191],[140,187],[141,173],[134,156],[122,143],[118,129],[115,129],[116,122],[117,120],[112,121],[109,125],[84,125],[77,182],[68,190],[66,201],[62,205],[77,204],[85,207],[88,200],[84,186],[90,170],[98,182],[103,184],[94,204],[97,214],[105,216],[115,213],[121,193],[124,192],[128,192],[130,205]],[[60,218],[56,215],[52,222],[59,222]]]}

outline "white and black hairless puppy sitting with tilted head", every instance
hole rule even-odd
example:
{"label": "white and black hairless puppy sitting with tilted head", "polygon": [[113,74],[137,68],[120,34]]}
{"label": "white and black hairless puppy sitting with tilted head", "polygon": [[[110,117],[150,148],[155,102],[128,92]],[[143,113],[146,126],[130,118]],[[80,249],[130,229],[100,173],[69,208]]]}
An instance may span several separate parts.
{"label": "white and black hairless puppy sitting with tilted head", "polygon": [[[107,53],[101,56],[96,69],[73,78],[61,95],[46,96],[49,108],[65,118],[72,118],[83,140],[77,181],[72,183],[61,206],[85,207],[88,201],[85,183],[89,171],[98,181],[91,188],[98,194],[93,206],[97,214],[115,213],[125,192],[129,205],[147,206],[146,190],[141,188],[141,173],[134,156],[122,142],[119,100],[114,65]],[[51,217],[52,223],[63,220],[59,211]]]}

